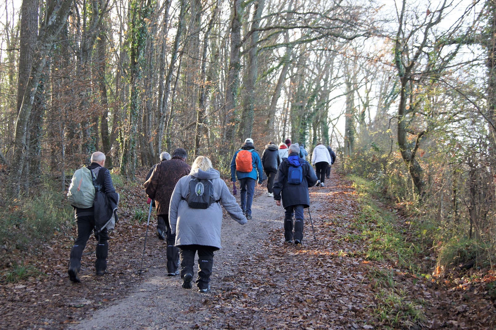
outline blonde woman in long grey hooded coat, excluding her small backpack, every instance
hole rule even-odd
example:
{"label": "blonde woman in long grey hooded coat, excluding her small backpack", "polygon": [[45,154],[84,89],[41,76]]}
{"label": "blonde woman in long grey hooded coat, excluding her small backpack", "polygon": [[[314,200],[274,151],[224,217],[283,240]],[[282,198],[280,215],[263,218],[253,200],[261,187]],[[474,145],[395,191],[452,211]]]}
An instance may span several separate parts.
{"label": "blonde woman in long grey hooded coat, excluding her small backpack", "polygon": [[[190,181],[194,179],[208,180],[212,184],[212,195],[215,201],[206,209],[192,208],[188,204]],[[196,157],[189,175],[179,179],[176,184],[169,206],[169,222],[172,234],[176,234],[175,245],[180,248],[181,278],[183,278],[182,286],[185,289],[191,288],[196,252],[198,252],[198,277],[196,279],[198,291],[207,292],[210,288],[214,251],[221,248],[221,204],[234,220],[242,225],[247,223],[241,207],[231,195],[224,180],[220,178],[219,171],[212,168],[210,159],[204,156]]]}

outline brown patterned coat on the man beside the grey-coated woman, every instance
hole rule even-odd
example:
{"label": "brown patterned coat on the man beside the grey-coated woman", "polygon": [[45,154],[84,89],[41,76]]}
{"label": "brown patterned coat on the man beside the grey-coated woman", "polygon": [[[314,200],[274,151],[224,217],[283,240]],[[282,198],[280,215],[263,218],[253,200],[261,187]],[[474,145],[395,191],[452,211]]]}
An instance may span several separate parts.
{"label": "brown patterned coat on the man beside the grey-coated woman", "polygon": [[171,160],[160,162],[153,170],[151,177],[145,182],[145,193],[155,199],[157,215],[169,214],[169,203],[172,192],[179,179],[188,175],[191,166],[181,157],[172,157]]}

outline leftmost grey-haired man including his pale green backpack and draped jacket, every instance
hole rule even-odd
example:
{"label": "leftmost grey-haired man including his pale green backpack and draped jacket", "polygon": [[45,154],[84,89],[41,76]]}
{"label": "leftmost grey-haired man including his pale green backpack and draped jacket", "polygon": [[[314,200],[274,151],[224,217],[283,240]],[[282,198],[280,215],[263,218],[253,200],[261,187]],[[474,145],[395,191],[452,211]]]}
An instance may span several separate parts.
{"label": "leftmost grey-haired man including his pale green backpack and draped jacket", "polygon": [[105,168],[105,154],[91,155],[91,164],[78,169],[72,176],[67,199],[74,207],[77,238],[70,250],[68,274],[72,282],[80,282],[81,256],[91,232],[98,240],[95,269],[103,275],[109,254],[108,230],[117,221],[119,194],[116,193],[110,171]]}

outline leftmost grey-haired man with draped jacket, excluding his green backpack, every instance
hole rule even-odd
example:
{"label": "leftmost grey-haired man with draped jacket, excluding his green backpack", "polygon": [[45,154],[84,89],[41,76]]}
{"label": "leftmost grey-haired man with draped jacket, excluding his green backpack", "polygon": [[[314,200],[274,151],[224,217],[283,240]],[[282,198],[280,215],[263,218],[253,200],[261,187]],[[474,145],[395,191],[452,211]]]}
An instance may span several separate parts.
{"label": "leftmost grey-haired man with draped jacket, excluding his green backpack", "polygon": [[[95,230],[95,238],[98,240],[95,261],[96,274],[104,275],[106,273],[107,256],[109,254],[108,229],[106,227],[97,234],[95,221],[101,220],[102,217],[106,217],[109,214],[113,216],[119,203],[119,194],[116,193],[114,188],[110,171],[105,168],[105,154],[103,152],[96,151],[91,155],[91,164],[88,169],[92,171],[92,176],[96,177],[98,192],[101,193],[96,193],[95,189],[95,199],[91,207],[79,208],[73,206],[77,225],[77,238],[70,250],[69,268],[67,270],[69,279],[72,282],[81,281],[79,278],[81,256],[93,230]],[[95,181],[93,181],[93,186],[95,186]],[[105,221],[107,220],[105,219]]]}

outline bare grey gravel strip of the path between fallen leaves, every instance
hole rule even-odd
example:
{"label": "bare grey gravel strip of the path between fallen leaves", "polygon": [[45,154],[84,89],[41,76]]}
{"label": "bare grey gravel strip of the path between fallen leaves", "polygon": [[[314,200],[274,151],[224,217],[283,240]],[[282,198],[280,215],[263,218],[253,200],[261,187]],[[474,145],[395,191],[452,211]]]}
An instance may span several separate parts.
{"label": "bare grey gravel strip of the path between fallen leaves", "polygon": [[[209,297],[228,289],[236,265],[240,260],[249,260],[267,239],[269,232],[282,227],[282,207],[275,205],[267,194],[254,198],[253,219],[239,225],[228,215],[222,223],[222,249],[215,253],[211,280],[211,292],[199,293],[181,287],[180,276],[168,277],[164,257],[155,257],[148,264],[145,280],[124,299],[95,312],[91,319],[80,320],[71,330],[94,329],[194,329],[209,320],[211,314]],[[152,241],[153,242],[153,241]],[[165,245],[164,245],[165,250]],[[165,251],[162,256],[165,256]],[[196,271],[196,270],[195,270]],[[193,279],[196,278],[194,275]]]}

